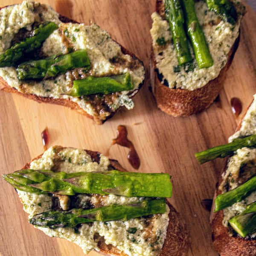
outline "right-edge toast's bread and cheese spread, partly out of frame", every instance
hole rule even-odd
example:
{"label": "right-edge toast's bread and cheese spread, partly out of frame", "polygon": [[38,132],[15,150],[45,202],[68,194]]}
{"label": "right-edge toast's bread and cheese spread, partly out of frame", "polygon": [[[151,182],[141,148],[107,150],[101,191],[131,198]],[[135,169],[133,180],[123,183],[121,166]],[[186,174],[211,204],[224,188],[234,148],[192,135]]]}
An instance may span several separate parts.
{"label": "right-edge toast's bread and cheese spread, partly out of frame", "polygon": [[[256,95],[244,118],[239,124],[238,131],[229,138],[229,142],[256,134]],[[222,173],[215,192],[215,198],[224,192],[241,187],[241,185],[252,180],[256,176],[256,149],[252,147],[243,147],[236,150],[229,158],[227,166]],[[256,183],[256,182],[255,182]],[[230,219],[241,215],[249,204],[256,202],[256,189],[250,191],[245,198],[239,200],[233,205],[224,208],[218,212],[215,206],[212,206],[211,226],[212,241],[221,256],[253,256],[256,255],[256,228],[248,234],[240,234],[234,231],[230,226]],[[253,219],[253,213],[250,213]],[[255,215],[255,209],[254,209]],[[250,224],[253,226],[253,224]],[[255,221],[254,221],[255,227]],[[242,237],[244,236],[244,237]]]}

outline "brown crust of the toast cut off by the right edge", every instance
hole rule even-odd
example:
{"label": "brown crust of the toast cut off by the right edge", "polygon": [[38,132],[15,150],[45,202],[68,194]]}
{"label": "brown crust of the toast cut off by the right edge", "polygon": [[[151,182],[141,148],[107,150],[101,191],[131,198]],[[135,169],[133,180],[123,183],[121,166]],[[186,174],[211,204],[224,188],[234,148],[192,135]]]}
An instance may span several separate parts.
{"label": "brown crust of the toast cut off by the right edge", "polygon": [[[250,105],[249,105],[250,107]],[[249,109],[247,108],[247,110]],[[246,112],[245,112],[246,113]],[[244,113],[244,115],[245,115]],[[241,118],[236,131],[241,128],[241,123],[244,116]],[[223,173],[227,170],[227,163],[224,167]],[[220,175],[218,183],[216,184],[216,190],[213,198],[213,202],[217,195],[221,194],[219,189],[220,184],[223,181],[223,176]],[[256,255],[256,239],[244,239],[241,236],[229,236],[228,229],[222,224],[224,218],[223,210],[214,212],[214,203],[212,204],[210,214],[210,224],[212,229],[212,242],[215,249],[221,256],[255,256]]]}

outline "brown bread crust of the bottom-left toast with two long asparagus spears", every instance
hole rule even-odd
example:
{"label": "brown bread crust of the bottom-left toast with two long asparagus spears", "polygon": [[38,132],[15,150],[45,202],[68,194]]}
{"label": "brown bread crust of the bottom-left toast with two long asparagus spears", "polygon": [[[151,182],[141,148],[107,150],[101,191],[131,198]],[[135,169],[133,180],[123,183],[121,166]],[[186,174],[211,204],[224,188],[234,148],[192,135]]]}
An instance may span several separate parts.
{"label": "brown bread crust of the bottom-left toast with two long asparagus spears", "polygon": [[[65,148],[61,146],[57,146],[59,148]],[[99,162],[100,153],[97,151],[86,150],[86,153],[90,155],[91,159],[95,162]],[[35,157],[31,160],[37,160],[42,157],[43,154]],[[117,160],[109,159],[110,166],[113,169],[119,170],[121,172],[127,172]],[[29,169],[30,163],[26,163],[22,169]],[[166,239],[163,244],[163,248],[159,256],[186,256],[187,251],[189,249],[189,245],[191,243],[191,239],[189,236],[189,232],[186,227],[186,223],[184,219],[180,216],[180,214],[176,211],[176,209],[166,200],[166,204],[168,204],[170,212],[169,212],[169,224],[166,233]],[[100,237],[98,240],[98,247],[100,248],[99,253],[105,256],[128,256],[123,253],[116,247],[111,244],[106,244],[104,237]]]}

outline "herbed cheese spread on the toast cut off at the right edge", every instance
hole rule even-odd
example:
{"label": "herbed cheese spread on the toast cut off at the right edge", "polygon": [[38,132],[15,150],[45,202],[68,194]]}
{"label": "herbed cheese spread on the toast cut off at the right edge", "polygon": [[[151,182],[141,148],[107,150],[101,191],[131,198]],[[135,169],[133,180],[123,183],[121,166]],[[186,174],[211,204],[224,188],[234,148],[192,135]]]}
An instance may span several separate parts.
{"label": "herbed cheese spread on the toast cut off at the right edge", "polygon": [[[244,116],[240,130],[229,138],[229,142],[232,142],[238,137],[249,136],[252,134],[256,134],[256,94],[254,95],[254,100]],[[241,168],[246,165],[249,166],[248,169],[251,168],[249,169],[251,170],[250,176],[253,175],[253,173],[255,173],[254,166],[256,166],[256,148],[240,148],[234,153],[232,157],[230,157],[227,170],[225,173],[223,173],[223,183],[221,184],[221,186],[223,186],[223,192],[226,192],[224,186],[225,183],[228,183],[230,189],[234,189],[241,185],[241,182],[238,183],[237,180],[241,176]],[[255,174],[253,176],[255,176]],[[230,179],[230,177],[232,178]],[[224,226],[228,227],[228,221],[231,218],[243,212],[248,204],[251,204],[255,201],[256,191],[252,192],[249,196],[247,196],[247,198],[244,198],[244,200],[224,209]],[[249,236],[250,238],[255,238],[256,233],[250,234]]]}

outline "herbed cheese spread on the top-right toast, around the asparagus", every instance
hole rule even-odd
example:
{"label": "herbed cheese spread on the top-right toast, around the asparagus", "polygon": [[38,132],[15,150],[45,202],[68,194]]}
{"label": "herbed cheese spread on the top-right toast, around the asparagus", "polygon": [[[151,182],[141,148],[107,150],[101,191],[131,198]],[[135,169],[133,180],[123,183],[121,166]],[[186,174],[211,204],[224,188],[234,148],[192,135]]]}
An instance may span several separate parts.
{"label": "herbed cheese spread on the top-right toast, around the asparagus", "polygon": [[[213,58],[213,65],[209,68],[199,69],[192,47],[190,52],[193,62],[185,67],[178,66],[169,23],[157,12],[151,15],[153,24],[150,33],[156,67],[163,75],[162,83],[167,81],[170,88],[195,90],[215,79],[227,63],[228,52],[239,35],[241,17],[235,26],[224,22],[214,12],[209,11],[203,0],[195,3],[195,11]],[[157,44],[160,39],[165,43]]]}

